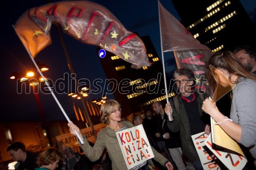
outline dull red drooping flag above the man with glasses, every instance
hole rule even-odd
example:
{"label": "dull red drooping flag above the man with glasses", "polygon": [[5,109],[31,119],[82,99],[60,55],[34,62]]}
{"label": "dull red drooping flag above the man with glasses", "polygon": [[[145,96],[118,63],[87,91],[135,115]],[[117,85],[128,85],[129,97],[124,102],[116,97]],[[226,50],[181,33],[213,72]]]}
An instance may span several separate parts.
{"label": "dull red drooping flag above the man with glasses", "polygon": [[205,62],[214,54],[201,44],[189,31],[159,3],[160,27],[163,52],[174,52],[178,68],[187,67],[194,71],[196,88],[205,89]]}

